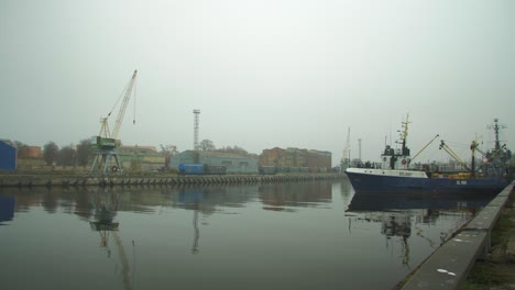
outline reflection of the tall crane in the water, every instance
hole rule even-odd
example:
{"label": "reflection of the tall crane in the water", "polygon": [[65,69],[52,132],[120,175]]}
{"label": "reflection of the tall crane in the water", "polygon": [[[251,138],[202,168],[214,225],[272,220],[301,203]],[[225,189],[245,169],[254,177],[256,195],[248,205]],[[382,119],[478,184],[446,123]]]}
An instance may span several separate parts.
{"label": "reflection of the tall crane in the water", "polygon": [[[130,266],[127,258],[125,248],[118,234],[119,223],[114,221],[118,212],[120,192],[119,191],[103,191],[95,192],[91,198],[91,203],[95,209],[94,221],[89,224],[92,231],[99,232],[100,234],[100,246],[107,249],[108,258],[111,257],[111,249],[109,247],[109,237],[112,235],[114,244],[118,249],[118,257],[122,266],[123,276],[123,288],[132,289],[131,280],[134,281],[134,277],[130,278]],[[134,247],[134,241],[132,241]],[[132,271],[134,275],[134,271]]]}

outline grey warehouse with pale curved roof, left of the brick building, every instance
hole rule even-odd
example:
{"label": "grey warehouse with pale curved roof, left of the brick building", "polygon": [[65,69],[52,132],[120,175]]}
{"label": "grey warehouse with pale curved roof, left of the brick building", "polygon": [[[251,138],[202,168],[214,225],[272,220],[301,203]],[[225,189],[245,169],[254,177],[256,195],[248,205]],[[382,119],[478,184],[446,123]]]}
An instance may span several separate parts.
{"label": "grey warehouse with pale curved roof, left of the brick building", "polygon": [[177,169],[179,164],[194,163],[224,165],[228,174],[258,174],[258,158],[220,152],[185,150],[172,156],[169,167]]}

